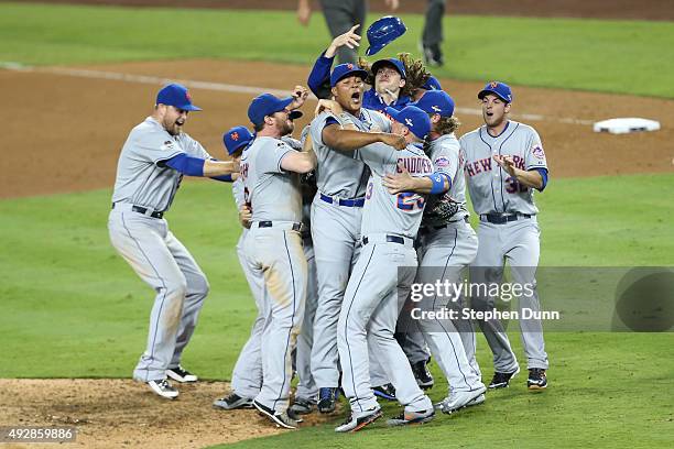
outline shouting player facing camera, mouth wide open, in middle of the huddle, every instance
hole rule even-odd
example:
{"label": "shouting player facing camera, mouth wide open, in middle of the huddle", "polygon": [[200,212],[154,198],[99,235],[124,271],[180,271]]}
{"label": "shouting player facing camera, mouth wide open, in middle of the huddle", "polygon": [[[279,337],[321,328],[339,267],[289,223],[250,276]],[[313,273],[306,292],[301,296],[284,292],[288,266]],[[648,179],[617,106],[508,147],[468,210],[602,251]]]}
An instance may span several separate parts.
{"label": "shouting player facing camera, mouth wide open, in middle of the huddle", "polygon": [[[318,161],[316,184],[318,191],[312,206],[312,240],[316,256],[318,306],[314,320],[312,373],[319,386],[318,410],[335,410],[339,386],[336,344],[337,319],[351,267],[360,250],[360,221],[365,189],[369,178],[366,165],[351,154],[374,142],[402,146],[399,135],[368,132],[373,125],[387,131],[390,121],[382,114],[361,108],[367,73],[352,64],[335,67],[330,76],[331,95],[344,110],[335,116],[318,114],[311,124],[311,139]],[[354,129],[344,129],[347,123]],[[377,370],[373,385],[389,380]],[[393,397],[389,395],[389,397]]]}

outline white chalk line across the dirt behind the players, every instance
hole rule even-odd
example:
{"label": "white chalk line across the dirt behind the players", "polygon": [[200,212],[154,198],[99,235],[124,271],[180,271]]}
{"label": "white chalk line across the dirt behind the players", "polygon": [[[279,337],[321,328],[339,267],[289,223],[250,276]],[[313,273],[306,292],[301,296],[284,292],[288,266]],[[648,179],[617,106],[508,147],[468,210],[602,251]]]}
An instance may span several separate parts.
{"label": "white chalk line across the dirt behind the players", "polygon": [[[33,66],[25,66],[20,63],[11,63],[11,62],[0,62],[0,68],[4,68],[7,70],[13,70],[13,72],[42,73],[42,74],[64,75],[64,76],[74,76],[74,77],[91,78],[91,79],[110,79],[110,80],[116,80],[116,81],[141,83],[141,84],[150,84],[150,85],[159,85],[159,86],[163,86],[168,83],[180,83],[191,89],[216,90],[216,91],[232,92],[232,94],[260,95],[263,92],[269,92],[269,94],[273,94],[276,96],[287,96],[290,94],[290,90],[269,89],[265,87],[240,86],[240,85],[231,85],[231,84],[225,84],[225,83],[195,81],[192,79],[164,78],[160,76],[120,74],[117,72],[89,70],[89,69],[84,69],[84,68],[33,67]],[[316,97],[313,95],[309,96],[309,98],[316,100]],[[474,108],[456,108],[456,111],[459,113],[465,113],[465,114],[470,114],[470,116],[481,116],[482,114],[482,111],[480,109],[474,109]],[[551,117],[545,117],[545,116],[535,114],[535,113],[519,113],[519,114],[513,114],[513,118],[518,118],[518,119],[522,119],[526,121],[553,121],[553,122],[566,123],[566,124],[581,124],[581,125],[594,124],[593,120],[581,120],[581,119],[574,119],[574,118],[551,118]]]}

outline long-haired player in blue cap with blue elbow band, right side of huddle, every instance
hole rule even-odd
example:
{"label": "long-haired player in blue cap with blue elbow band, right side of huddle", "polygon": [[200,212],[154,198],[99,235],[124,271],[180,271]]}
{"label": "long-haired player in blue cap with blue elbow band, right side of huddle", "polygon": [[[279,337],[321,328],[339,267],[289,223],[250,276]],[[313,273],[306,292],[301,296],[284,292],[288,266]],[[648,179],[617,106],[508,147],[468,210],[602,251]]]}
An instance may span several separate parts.
{"label": "long-haired player in blue cap with blue elbow band, right side of huddle", "polygon": [[[430,90],[415,106],[431,118],[427,153],[433,162],[434,175],[412,177],[401,169],[402,173],[388,174],[383,183],[391,194],[431,194],[418,232],[421,270],[414,282],[435,284],[437,281],[448,281],[455,284],[461,271],[475,260],[478,240],[468,225],[464,158],[454,135],[458,127],[458,121],[453,118],[454,100],[444,90]],[[422,310],[442,310],[445,307],[453,307],[450,298],[437,295],[427,296],[418,304]],[[401,324],[403,321],[401,319]],[[470,322],[460,320],[455,326],[452,320],[423,318],[407,319],[407,322],[409,332],[421,332],[425,337],[449,383],[449,395],[437,408],[452,413],[485,402],[487,388],[480,380],[479,368],[469,364],[461,341],[465,338],[475,347]],[[464,325],[459,329],[460,335],[457,330],[459,324]]]}

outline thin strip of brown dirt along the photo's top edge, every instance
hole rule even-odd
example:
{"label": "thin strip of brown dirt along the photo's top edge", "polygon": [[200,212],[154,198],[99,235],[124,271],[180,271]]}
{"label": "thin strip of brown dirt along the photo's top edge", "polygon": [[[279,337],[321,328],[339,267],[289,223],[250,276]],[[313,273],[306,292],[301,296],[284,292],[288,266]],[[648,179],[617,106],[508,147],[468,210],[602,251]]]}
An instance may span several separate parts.
{"label": "thin strip of brown dirt along the photo's top edge", "polygon": [[[25,0],[24,0],[25,1]],[[29,0],[40,3],[117,4],[127,7],[227,8],[260,10],[294,10],[296,0]],[[370,0],[370,11],[388,12],[384,0]],[[400,13],[423,13],[426,1],[401,0]],[[522,15],[593,19],[674,20],[670,0],[450,0],[448,14]],[[319,11],[318,0],[313,0]]]}

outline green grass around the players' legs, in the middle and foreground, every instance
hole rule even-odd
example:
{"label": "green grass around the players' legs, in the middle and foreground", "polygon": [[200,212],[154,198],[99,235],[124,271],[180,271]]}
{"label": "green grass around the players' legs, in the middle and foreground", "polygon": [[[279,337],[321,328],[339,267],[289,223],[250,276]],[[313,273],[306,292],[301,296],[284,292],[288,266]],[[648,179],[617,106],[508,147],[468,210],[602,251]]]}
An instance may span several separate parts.
{"label": "green grass around the players' legs, in the middle and foreground", "polygon": [[[653,191],[673,188],[672,175],[554,179],[537,197],[543,264],[671,265],[671,200]],[[109,190],[97,190],[0,201],[0,377],[131,375],[153,294],[109,244]],[[239,229],[230,187],[186,183],[168,220],[213,288],[184,362],[205,379],[229,379],[254,316],[233,251]],[[545,394],[526,393],[519,377],[483,406],[439,416],[421,434],[385,429],[382,420],[336,437],[330,423],[238,446],[650,448],[672,441],[672,333],[557,332],[546,340],[552,386]],[[521,354],[517,335],[512,341]],[[480,348],[489,375],[483,340]],[[432,397],[441,399],[445,387],[439,382]],[[396,410],[385,407],[388,416]]]}

